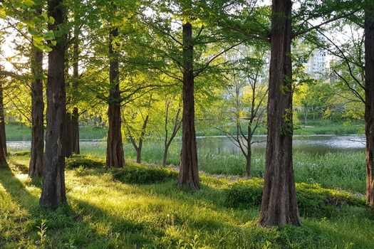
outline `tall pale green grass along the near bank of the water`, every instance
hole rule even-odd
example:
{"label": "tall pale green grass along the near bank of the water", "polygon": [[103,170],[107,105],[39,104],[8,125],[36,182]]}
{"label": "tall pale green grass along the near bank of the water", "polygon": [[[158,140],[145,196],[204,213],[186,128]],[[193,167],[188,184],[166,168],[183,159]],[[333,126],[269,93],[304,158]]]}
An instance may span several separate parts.
{"label": "tall pale green grass along the near bank of the water", "polygon": [[[142,150],[142,160],[150,164],[162,163],[162,143],[147,142]],[[105,157],[105,143],[96,147],[82,147],[83,154]],[[136,153],[130,144],[125,145],[127,159],[135,159]],[[209,174],[244,176],[246,161],[241,154],[216,152],[207,148],[198,150],[199,169]],[[177,166],[180,161],[178,142],[170,147],[168,164]],[[264,176],[264,150],[255,149],[252,155],[253,176]],[[294,152],[294,172],[298,182],[319,183],[322,186],[365,193],[365,154],[364,152],[333,152],[312,154]]]}

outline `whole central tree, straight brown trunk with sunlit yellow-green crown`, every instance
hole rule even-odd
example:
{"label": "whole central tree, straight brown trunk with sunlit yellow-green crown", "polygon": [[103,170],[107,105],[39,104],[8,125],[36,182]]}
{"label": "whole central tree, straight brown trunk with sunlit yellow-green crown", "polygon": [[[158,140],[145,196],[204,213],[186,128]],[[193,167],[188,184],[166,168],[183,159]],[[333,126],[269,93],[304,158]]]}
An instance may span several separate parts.
{"label": "whole central tree, straight brown trunk with sunlit yellow-green crown", "polygon": [[[209,19],[216,9],[231,9],[230,6],[236,1],[171,2],[172,4],[165,2],[151,5],[155,14],[143,17],[151,33],[155,33],[158,38],[145,46],[155,54],[150,60],[162,58],[161,62],[153,61],[148,65],[182,83],[182,152],[178,184],[197,190],[199,170],[194,127],[194,91],[197,85],[195,83],[201,75],[209,77],[207,72],[218,67],[218,63],[215,62],[238,45],[233,44],[230,38],[222,34],[217,23]],[[174,25],[177,23],[182,24],[182,27]],[[209,49],[216,53],[207,53]],[[202,85],[204,84],[199,83],[200,88]]]}

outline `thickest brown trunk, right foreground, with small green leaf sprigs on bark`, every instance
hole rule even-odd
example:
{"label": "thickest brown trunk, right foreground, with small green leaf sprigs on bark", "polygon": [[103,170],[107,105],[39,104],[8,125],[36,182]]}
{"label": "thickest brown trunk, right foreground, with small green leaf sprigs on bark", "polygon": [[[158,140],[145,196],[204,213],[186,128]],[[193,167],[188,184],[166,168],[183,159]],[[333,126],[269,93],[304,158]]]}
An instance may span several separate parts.
{"label": "thickest brown trunk, right foreground, with small green leaf sprigs on bark", "polygon": [[273,0],[261,226],[300,225],[292,166],[291,0]]}

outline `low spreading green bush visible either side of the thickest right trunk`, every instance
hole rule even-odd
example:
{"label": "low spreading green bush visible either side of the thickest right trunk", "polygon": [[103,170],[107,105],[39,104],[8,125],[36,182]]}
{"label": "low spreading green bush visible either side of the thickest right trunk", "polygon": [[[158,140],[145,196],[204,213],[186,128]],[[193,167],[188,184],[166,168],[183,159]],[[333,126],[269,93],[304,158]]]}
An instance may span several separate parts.
{"label": "low spreading green bush visible either side of the thickest right trunk", "polygon": [[[227,190],[227,206],[253,208],[261,205],[263,179],[237,181]],[[346,191],[325,189],[318,184],[296,183],[301,216],[329,217],[344,206],[365,206],[365,199]]]}

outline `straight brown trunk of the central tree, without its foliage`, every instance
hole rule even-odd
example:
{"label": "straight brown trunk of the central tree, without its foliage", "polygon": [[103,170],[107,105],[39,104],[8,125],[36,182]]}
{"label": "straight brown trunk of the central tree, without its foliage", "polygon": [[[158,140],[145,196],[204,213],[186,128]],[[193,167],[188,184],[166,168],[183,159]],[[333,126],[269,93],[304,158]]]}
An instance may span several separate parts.
{"label": "straight brown trunk of the central tree, without its foliage", "polygon": [[194,73],[191,23],[183,24],[183,116],[182,158],[178,183],[190,189],[199,189],[197,145],[194,129]]}

